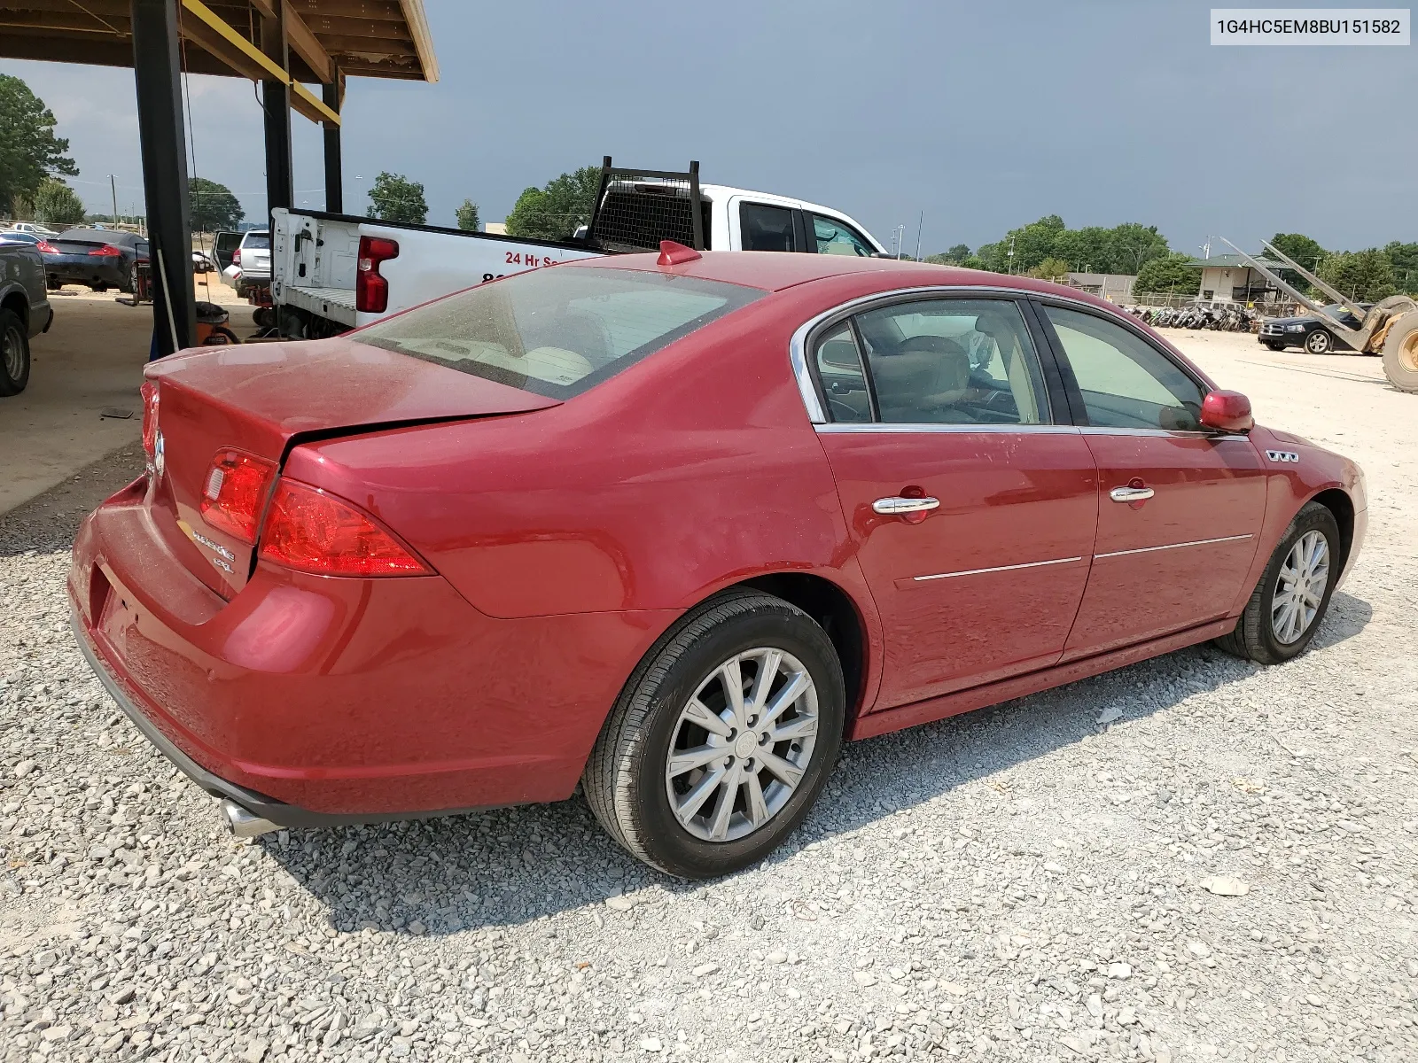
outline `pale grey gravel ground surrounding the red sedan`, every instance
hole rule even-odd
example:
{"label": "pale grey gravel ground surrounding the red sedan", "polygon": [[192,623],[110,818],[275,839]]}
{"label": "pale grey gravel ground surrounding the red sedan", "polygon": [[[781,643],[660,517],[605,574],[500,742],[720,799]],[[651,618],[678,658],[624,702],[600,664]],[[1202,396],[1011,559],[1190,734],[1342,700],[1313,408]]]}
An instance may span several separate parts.
{"label": "pale grey gravel ground surrounding the red sedan", "polygon": [[580,801],[228,838],[67,629],[74,516],[132,455],[9,514],[0,1057],[1418,1059],[1418,395],[1177,339],[1367,468],[1314,649],[852,746],[791,845],[708,886]]}

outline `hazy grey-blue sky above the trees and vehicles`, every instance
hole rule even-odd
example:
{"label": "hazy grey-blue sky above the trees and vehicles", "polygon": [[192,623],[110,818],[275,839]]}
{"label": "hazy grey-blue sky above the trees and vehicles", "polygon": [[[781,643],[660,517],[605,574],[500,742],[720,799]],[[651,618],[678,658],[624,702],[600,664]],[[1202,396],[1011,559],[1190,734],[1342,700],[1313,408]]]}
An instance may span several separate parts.
{"label": "hazy grey-blue sky above the trees and vehicles", "polygon": [[[1329,0],[1336,3],[1336,0]],[[1411,48],[1218,48],[1210,6],[783,0],[425,0],[442,79],[352,78],[346,210],[379,170],[423,181],[431,224],[496,221],[529,184],[617,162],[800,196],[923,252],[1044,214],[1156,224],[1174,249],[1302,231],[1329,248],[1418,240]],[[75,189],[142,203],[132,72],[0,61],[58,116]],[[196,173],[265,206],[250,82],[193,77]],[[323,206],[319,129],[296,203]]]}

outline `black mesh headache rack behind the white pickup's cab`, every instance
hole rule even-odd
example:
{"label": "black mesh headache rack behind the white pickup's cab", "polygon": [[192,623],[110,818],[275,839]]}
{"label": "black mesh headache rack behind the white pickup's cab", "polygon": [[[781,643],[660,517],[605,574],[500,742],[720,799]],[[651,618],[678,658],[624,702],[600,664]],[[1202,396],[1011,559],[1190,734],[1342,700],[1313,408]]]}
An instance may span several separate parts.
{"label": "black mesh headache rack behind the white pickup's cab", "polygon": [[591,213],[590,245],[603,251],[655,251],[659,241],[705,249],[709,230],[699,196],[699,163],[685,173],[630,170],[601,164],[601,186]]}

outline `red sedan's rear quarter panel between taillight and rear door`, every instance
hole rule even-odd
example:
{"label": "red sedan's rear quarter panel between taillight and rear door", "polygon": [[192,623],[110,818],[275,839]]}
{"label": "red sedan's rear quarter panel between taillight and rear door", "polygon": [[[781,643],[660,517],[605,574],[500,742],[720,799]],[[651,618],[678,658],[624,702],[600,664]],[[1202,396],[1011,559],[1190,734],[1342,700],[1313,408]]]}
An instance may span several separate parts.
{"label": "red sedan's rear quarter panel between taillight and rear door", "polygon": [[849,584],[769,302],[560,407],[299,446],[286,471],[369,509],[491,617],[682,611],[767,571]]}

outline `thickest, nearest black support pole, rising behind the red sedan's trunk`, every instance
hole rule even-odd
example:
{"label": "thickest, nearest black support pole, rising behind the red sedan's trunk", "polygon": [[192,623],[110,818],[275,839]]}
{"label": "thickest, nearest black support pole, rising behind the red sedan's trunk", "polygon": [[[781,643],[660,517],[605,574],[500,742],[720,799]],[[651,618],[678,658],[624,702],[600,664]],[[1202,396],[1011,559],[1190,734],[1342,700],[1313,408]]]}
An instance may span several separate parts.
{"label": "thickest, nearest black support pole, rising behind the red sedan's trunk", "polygon": [[172,354],[193,346],[197,332],[177,4],[173,0],[133,0],[132,14],[138,140],[152,248],[153,326],[159,354]]}

